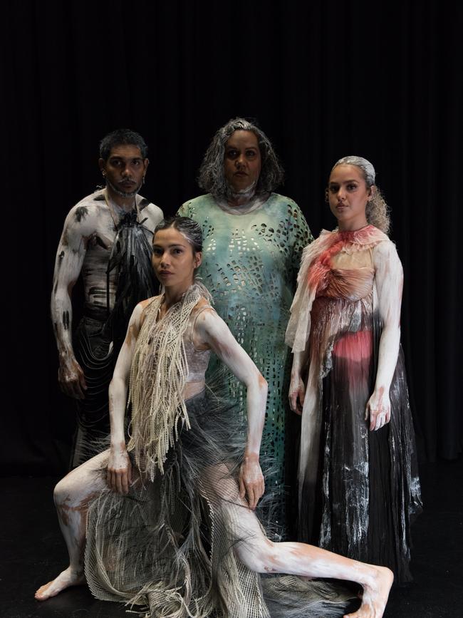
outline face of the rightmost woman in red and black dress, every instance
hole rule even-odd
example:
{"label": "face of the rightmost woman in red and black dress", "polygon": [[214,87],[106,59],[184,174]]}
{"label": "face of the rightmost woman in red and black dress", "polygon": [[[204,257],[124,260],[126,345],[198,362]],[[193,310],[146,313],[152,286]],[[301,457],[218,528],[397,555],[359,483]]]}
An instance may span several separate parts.
{"label": "face of the rightmost woman in red and black dress", "polygon": [[367,225],[365,208],[374,187],[367,187],[356,165],[337,165],[328,181],[328,201],[341,230],[358,230]]}

